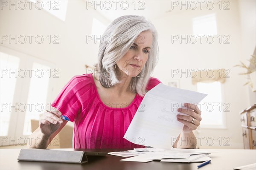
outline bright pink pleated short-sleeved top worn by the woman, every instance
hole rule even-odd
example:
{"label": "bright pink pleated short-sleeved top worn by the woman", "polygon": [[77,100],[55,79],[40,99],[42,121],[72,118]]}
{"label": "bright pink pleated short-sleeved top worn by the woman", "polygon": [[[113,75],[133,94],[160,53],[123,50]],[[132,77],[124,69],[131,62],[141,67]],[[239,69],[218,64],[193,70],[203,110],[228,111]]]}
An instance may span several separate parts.
{"label": "bright pink pleated short-sleeved top worn by the woman", "polygon": [[[147,90],[159,83],[157,78],[150,77]],[[74,122],[74,148],[143,148],[143,143],[138,145],[123,138],[142,99],[136,94],[130,105],[105,105],[99,97],[93,74],[82,74],[70,79],[52,107]],[[121,105],[127,107],[120,108]]]}

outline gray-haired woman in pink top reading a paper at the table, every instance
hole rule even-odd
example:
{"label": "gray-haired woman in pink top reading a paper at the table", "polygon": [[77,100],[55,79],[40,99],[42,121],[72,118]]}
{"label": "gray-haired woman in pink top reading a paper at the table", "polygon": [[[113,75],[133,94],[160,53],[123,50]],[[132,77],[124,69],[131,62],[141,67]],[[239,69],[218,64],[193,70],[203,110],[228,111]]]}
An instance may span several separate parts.
{"label": "gray-haired woman in pink top reading a paper at the table", "polygon": [[[32,133],[31,148],[47,148],[67,124],[74,122],[74,148],[142,148],[124,139],[145,93],[160,83],[150,77],[158,60],[157,31],[142,16],[127,15],[114,20],[102,36],[95,74],[74,76],[61,90]],[[201,121],[196,105],[185,105],[177,120],[184,124],[173,147],[195,148],[178,142],[194,137]],[[193,109],[193,110],[192,110]],[[194,120],[194,121],[192,121]],[[166,134],[168,135],[168,134]],[[41,138],[38,138],[41,137]],[[37,141],[35,141],[37,139]],[[41,142],[38,142],[41,139]]]}

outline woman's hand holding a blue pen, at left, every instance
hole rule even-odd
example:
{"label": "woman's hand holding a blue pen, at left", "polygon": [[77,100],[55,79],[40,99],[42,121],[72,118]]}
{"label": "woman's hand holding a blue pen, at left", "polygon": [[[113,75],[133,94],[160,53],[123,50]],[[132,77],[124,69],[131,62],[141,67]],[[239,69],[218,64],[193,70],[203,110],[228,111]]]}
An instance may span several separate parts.
{"label": "woman's hand holding a blue pen, at left", "polygon": [[63,123],[63,120],[60,118],[61,112],[57,109],[54,109],[49,112],[44,112],[43,115],[40,117],[39,120],[39,127],[41,133],[46,136],[51,136]]}

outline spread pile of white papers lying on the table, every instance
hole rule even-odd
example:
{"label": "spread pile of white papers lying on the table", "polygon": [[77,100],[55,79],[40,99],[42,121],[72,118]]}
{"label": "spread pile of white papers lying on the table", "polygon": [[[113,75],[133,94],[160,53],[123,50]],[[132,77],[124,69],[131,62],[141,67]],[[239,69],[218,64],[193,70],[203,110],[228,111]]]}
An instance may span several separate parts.
{"label": "spread pile of white papers lying on the table", "polygon": [[[122,155],[122,153],[125,155]],[[160,160],[161,162],[203,162],[211,160],[208,155],[210,152],[207,150],[197,149],[172,149],[172,150],[161,150],[161,149],[134,149],[128,152],[115,152],[115,154],[108,153],[110,155],[128,157],[131,153],[131,158],[121,159],[120,161],[136,161],[136,162],[149,162],[153,160]],[[132,155],[137,154],[137,156]]]}

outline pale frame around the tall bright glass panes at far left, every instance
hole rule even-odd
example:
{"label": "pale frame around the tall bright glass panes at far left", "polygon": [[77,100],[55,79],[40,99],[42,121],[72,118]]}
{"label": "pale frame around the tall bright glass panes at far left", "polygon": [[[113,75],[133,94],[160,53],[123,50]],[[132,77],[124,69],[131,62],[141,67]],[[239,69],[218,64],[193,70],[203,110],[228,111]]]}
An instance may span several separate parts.
{"label": "pale frame around the tall bright glass panes at far left", "polygon": [[[26,68],[32,68],[33,62],[47,65],[51,70],[55,69],[55,63],[49,62],[41,58],[37,58],[35,56],[23,53],[21,51],[17,51],[14,48],[9,48],[8,46],[0,45],[0,47],[1,47],[1,52],[20,58],[18,69],[26,70]],[[15,105],[15,103],[17,103],[17,105],[19,103],[27,103],[29,84],[30,84],[29,76],[26,76],[24,78],[17,76],[16,85],[14,89],[13,102],[11,103],[12,106]],[[51,101],[52,91],[54,87],[55,87],[55,82],[53,82],[53,78],[51,77],[49,78],[49,84],[47,88],[47,97],[46,97],[47,101]],[[15,109],[11,109],[7,136],[0,136],[0,140],[1,140],[0,146],[9,146],[9,145],[16,146],[16,145],[26,144],[26,142],[29,140],[28,139],[29,135],[23,135],[23,128],[24,128],[24,122],[25,122],[25,116],[26,116],[25,114],[26,112],[19,111],[18,109],[17,111],[15,111]],[[39,120],[39,117],[38,117],[38,120]],[[4,138],[7,139],[7,142],[5,142]]]}

